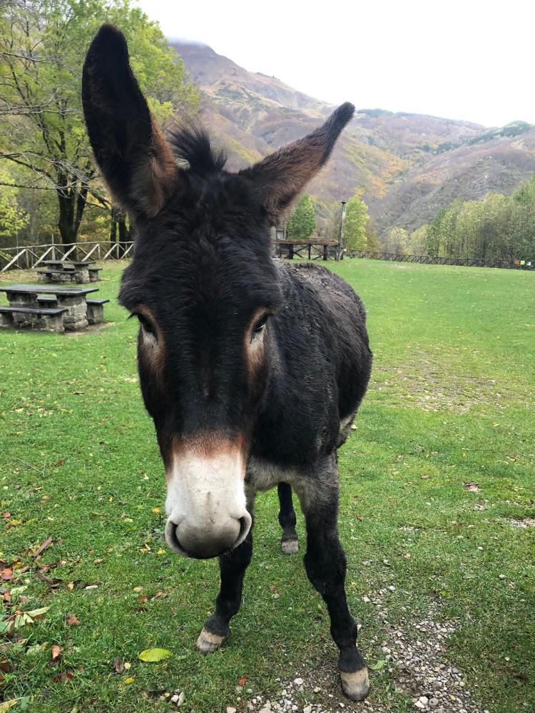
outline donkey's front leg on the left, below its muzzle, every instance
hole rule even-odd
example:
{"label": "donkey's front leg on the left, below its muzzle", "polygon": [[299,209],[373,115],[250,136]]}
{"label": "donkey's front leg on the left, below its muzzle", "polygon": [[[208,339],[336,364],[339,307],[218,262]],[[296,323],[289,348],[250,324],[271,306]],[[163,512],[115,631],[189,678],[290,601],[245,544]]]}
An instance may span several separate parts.
{"label": "donkey's front leg on the left, below its muzzle", "polygon": [[245,540],[235,550],[219,558],[221,585],[215,600],[215,613],[205,621],[196,648],[203,654],[217,650],[230,636],[229,622],[238,614],[242,601],[243,578],[253,555],[253,524]]}

